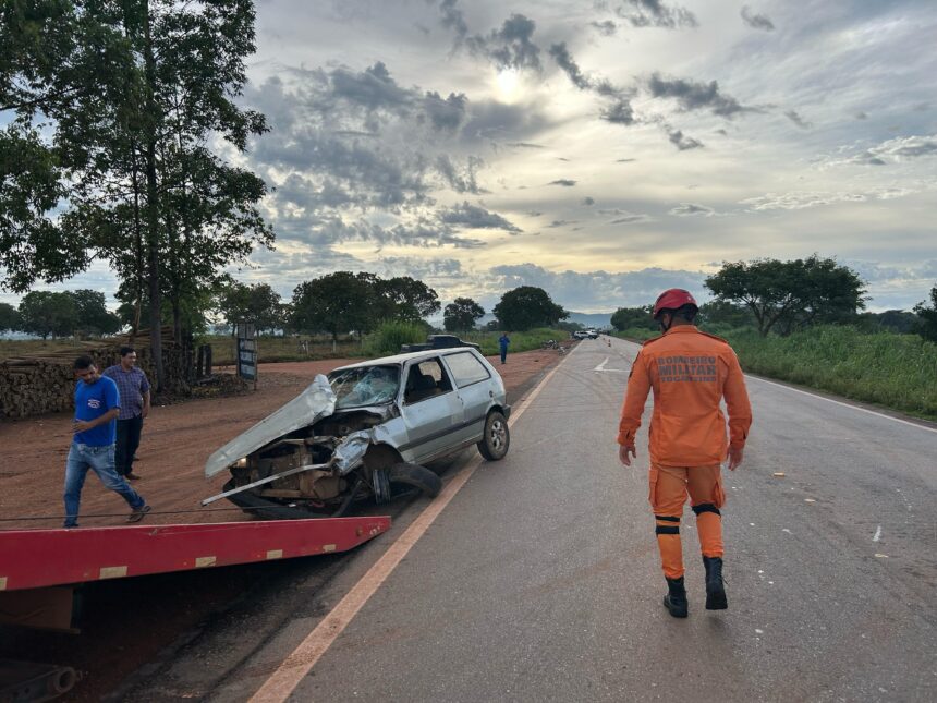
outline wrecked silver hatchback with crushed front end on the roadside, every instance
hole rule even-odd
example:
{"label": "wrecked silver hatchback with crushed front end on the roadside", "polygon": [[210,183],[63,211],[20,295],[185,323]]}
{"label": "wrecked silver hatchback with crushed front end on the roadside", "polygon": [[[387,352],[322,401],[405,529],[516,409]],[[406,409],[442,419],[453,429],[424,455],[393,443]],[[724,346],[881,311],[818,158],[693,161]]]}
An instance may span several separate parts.
{"label": "wrecked silver hatchback with crushed front end on the roadside", "polygon": [[504,384],[471,348],[386,356],[316,376],[302,393],[209,457],[230,471],[223,493],[267,518],[338,517],[414,489],[435,496],[425,464],[476,445],[489,461],[510,447]]}

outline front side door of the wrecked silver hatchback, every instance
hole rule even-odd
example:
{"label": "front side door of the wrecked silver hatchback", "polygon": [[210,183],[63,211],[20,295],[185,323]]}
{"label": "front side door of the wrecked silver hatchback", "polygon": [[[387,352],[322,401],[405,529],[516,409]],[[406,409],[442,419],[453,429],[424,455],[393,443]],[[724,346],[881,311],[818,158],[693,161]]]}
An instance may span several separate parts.
{"label": "front side door of the wrecked silver hatchback", "polygon": [[422,463],[459,444],[457,433],[465,413],[438,356],[414,360],[404,373],[401,416],[406,444],[399,449],[407,461]]}

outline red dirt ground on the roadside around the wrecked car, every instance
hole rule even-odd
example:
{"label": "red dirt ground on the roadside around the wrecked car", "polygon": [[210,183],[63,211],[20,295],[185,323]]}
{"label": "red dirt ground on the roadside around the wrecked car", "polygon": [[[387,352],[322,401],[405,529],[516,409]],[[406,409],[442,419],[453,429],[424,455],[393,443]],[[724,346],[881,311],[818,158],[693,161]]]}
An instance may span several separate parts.
{"label": "red dirt ground on the roadside around the wrecked car", "polygon": [[[516,404],[559,359],[556,351],[531,351],[509,355],[504,365],[497,357],[489,361],[504,379],[509,402]],[[202,498],[220,493],[228,480],[227,472],[206,480],[205,461],[224,443],[294,398],[316,374],[354,361],[360,360],[261,364],[254,392],[155,407],[144,425],[134,464],[141,480],[132,484],[153,506],[146,523],[250,520],[223,500],[199,506]],[[0,529],[61,525],[70,422],[71,414],[56,413],[0,424]],[[89,473],[82,492],[82,526],[124,524],[127,512],[123,499]]]}

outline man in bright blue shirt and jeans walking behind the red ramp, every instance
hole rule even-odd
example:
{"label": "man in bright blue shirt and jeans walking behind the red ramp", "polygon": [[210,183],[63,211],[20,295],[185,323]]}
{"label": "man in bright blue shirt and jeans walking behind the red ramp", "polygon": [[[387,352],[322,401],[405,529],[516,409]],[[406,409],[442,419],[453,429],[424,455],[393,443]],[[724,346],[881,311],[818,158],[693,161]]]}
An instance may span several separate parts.
{"label": "man in bright blue shirt and jeans walking behind the red ramp", "polygon": [[127,522],[139,522],[150,507],[130,484],[119,476],[114,468],[117,416],[120,413],[120,395],[110,378],[98,373],[89,356],[78,356],[74,364],[75,420],[74,438],[65,462],[65,528],[78,526],[78,505],[88,469],[94,471],[107,488],[121,495],[131,507]]}

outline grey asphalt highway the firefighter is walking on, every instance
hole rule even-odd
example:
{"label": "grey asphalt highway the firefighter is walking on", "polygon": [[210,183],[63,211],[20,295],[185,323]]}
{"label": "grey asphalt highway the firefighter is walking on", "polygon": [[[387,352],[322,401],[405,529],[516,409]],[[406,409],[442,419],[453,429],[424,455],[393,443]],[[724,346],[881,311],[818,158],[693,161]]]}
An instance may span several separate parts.
{"label": "grey asphalt highway the firefighter is walking on", "polygon": [[[647,504],[650,400],[636,465],[614,444],[637,349],[570,353],[508,457],[475,470],[290,700],[937,700],[937,432],[750,377],[745,461],[725,475],[729,609],[703,607],[687,507],[677,620]],[[245,605],[135,694],[247,700],[427,505],[340,573]]]}

